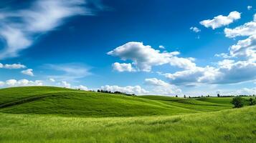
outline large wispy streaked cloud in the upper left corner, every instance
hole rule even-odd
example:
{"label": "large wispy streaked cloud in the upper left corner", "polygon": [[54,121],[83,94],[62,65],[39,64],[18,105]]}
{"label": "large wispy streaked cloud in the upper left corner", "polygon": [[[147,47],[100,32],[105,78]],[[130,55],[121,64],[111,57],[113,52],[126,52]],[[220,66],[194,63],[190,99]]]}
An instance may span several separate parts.
{"label": "large wispy streaked cloud in the upper left corner", "polygon": [[2,9],[0,36],[6,45],[0,51],[0,59],[17,56],[34,43],[34,37],[54,30],[68,17],[91,15],[85,4],[84,0],[37,0],[27,9]]}

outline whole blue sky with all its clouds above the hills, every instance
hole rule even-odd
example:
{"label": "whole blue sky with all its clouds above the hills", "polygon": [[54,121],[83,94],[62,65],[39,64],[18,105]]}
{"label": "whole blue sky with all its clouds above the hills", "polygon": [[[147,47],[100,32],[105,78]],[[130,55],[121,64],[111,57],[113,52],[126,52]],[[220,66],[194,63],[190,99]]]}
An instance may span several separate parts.
{"label": "whole blue sky with all its clouds above the hills", "polygon": [[256,94],[256,2],[0,2],[0,88]]}

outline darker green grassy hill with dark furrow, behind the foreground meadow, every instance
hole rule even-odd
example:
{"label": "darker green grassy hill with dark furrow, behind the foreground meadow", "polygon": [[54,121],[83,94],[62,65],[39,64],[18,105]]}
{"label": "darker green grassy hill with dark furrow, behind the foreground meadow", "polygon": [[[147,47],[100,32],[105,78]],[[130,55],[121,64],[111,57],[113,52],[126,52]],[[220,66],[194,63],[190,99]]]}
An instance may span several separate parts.
{"label": "darker green grassy hill with dark furrow, behind the foreground meadow", "polygon": [[0,112],[83,117],[132,117],[211,112],[231,105],[176,97],[129,97],[60,87],[0,89]]}

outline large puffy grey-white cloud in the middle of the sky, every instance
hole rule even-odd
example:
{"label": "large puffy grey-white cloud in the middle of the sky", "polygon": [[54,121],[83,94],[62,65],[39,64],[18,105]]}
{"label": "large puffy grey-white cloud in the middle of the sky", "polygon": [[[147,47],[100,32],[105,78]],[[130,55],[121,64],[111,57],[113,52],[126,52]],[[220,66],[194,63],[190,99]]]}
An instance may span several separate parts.
{"label": "large puffy grey-white cloud in the middle of the sky", "polygon": [[143,45],[141,42],[128,42],[122,46],[118,46],[113,51],[108,52],[111,56],[118,56],[120,59],[126,61],[133,61],[137,71],[151,71],[152,66],[160,66],[163,64],[170,64],[182,69],[191,69],[196,66],[194,59],[178,57],[178,51],[161,52],[153,49],[151,46]]}

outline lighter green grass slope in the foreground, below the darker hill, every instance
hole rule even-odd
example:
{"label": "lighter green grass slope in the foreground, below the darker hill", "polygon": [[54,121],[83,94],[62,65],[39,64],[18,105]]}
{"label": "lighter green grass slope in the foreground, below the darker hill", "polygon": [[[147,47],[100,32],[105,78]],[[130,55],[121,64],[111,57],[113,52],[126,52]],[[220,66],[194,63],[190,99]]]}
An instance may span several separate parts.
{"label": "lighter green grass slope in the foreground, below the darker hill", "polygon": [[255,142],[256,107],[169,117],[0,113],[0,142]]}

